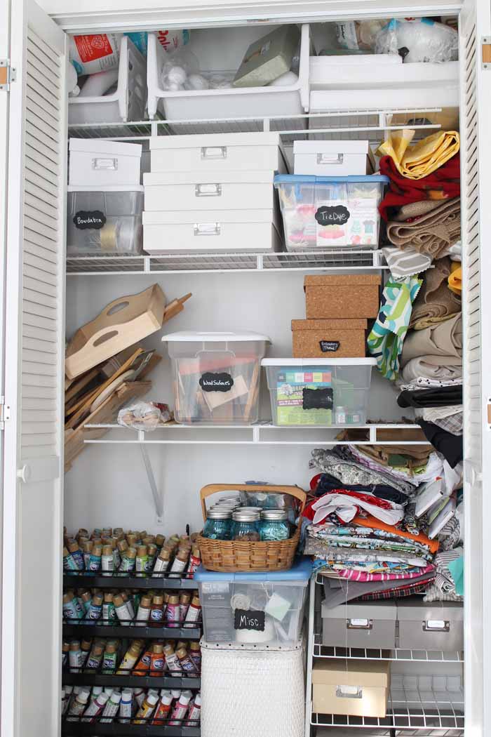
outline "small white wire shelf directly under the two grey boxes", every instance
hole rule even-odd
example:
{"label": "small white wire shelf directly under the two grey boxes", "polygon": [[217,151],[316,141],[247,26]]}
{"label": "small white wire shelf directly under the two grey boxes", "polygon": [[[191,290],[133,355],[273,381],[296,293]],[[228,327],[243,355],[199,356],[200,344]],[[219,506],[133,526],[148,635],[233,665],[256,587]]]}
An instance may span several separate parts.
{"label": "small white wire shelf directly under the two grey boxes", "polygon": [[405,650],[395,648],[333,647],[322,644],[322,635],[314,635],[314,657],[339,660],[391,660],[395,663],[464,663],[463,652],[444,650]]}

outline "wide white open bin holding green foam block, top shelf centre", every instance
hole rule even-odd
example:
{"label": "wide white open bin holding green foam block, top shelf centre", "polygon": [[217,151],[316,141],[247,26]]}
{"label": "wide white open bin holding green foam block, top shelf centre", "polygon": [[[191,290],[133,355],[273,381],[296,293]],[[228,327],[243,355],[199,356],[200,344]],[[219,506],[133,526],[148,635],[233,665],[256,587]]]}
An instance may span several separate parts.
{"label": "wide white open bin holding green foam block, top shelf centre", "polygon": [[[198,57],[202,71],[224,73],[225,69],[239,69],[244,53],[252,41],[264,35],[264,28],[224,28],[212,36],[206,30],[194,31],[189,50]],[[302,26],[300,41],[300,69],[297,82],[286,86],[222,88],[208,90],[169,91],[162,88],[160,71],[166,52],[153,33],[148,36],[148,111],[155,118],[157,111],[166,120],[206,120],[217,118],[262,118],[266,116],[293,116],[308,111],[308,54],[309,27]],[[216,53],[219,49],[219,53]],[[227,49],[230,53],[227,54]],[[225,55],[225,56],[224,56]],[[293,122],[292,122],[293,123]],[[209,129],[209,125],[207,128]],[[294,125],[294,123],[293,123]],[[298,119],[298,128],[306,128],[306,119]],[[220,124],[216,124],[220,128]],[[173,125],[175,133],[184,126]]]}

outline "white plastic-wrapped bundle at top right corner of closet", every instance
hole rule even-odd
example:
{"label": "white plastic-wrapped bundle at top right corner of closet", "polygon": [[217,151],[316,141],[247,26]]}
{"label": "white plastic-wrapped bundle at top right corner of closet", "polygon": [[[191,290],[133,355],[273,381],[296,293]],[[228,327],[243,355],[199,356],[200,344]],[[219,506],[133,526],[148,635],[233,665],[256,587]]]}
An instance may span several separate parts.
{"label": "white plastic-wrapped bundle at top right corner of closet", "polygon": [[456,61],[459,36],[455,29],[429,18],[392,18],[377,34],[375,54],[400,54],[404,63]]}

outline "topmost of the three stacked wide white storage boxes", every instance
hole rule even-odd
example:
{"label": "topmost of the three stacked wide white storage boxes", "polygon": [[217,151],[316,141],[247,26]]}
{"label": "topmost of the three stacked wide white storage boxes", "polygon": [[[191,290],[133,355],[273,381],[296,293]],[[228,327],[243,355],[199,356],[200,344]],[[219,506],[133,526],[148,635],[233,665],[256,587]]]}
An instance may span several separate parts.
{"label": "topmost of the three stacked wide white storage boxes", "polygon": [[153,136],[150,139],[151,171],[286,172],[279,133],[202,133],[197,136]]}

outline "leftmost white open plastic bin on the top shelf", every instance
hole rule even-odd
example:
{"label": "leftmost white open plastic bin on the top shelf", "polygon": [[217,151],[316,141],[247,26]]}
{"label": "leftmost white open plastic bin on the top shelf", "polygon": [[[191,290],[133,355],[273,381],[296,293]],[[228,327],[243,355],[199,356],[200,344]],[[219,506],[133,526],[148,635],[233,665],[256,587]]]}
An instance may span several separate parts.
{"label": "leftmost white open plastic bin on the top shelf", "polygon": [[98,97],[68,97],[68,123],[77,125],[143,120],[145,103],[145,59],[133,42],[123,36],[116,90]]}

